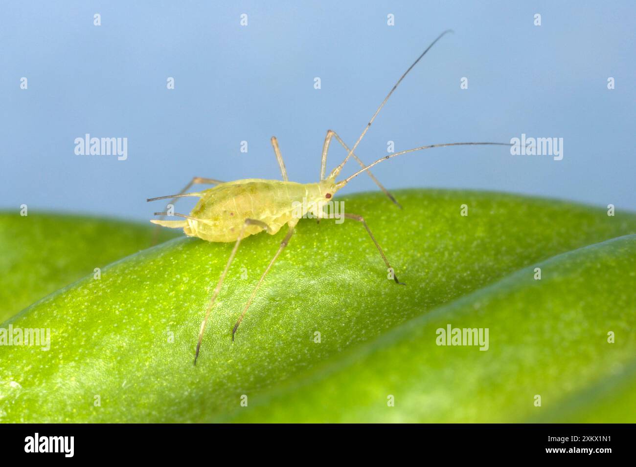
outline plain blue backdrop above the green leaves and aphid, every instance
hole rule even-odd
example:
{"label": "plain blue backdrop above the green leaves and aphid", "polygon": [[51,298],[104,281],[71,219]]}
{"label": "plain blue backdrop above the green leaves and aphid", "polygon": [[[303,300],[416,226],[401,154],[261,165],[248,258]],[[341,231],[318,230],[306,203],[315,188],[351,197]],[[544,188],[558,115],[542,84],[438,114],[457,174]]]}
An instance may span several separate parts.
{"label": "plain blue backdrop above the green leaves and aphid", "polygon": [[[487,189],[633,210],[634,18],[633,1],[3,0],[0,207],[150,219],[160,205],[146,198],[176,193],[194,175],[279,179],[272,135],[290,179],[317,181],[326,130],[352,145],[397,78],[451,28],[356,153],[371,162],[388,140],[401,151],[527,133],[563,137],[563,160],[503,147],[435,149],[383,163],[377,177],[389,188]],[[74,154],[85,133],[127,137],[128,159]],[[332,144],[328,169],[343,156]],[[367,189],[373,182],[358,177],[345,190]]]}

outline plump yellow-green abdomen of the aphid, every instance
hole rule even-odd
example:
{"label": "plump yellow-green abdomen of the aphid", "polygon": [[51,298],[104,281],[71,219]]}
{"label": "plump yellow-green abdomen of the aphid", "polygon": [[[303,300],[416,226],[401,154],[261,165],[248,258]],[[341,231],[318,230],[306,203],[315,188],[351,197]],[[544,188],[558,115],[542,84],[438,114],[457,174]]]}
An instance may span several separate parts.
{"label": "plump yellow-green abdomen of the aphid", "polygon": [[[184,232],[207,241],[236,241],[245,219],[256,219],[270,226],[275,234],[293,218],[293,202],[307,198],[307,186],[280,180],[247,179],[219,184],[201,192],[201,199]],[[252,225],[243,238],[263,231]]]}

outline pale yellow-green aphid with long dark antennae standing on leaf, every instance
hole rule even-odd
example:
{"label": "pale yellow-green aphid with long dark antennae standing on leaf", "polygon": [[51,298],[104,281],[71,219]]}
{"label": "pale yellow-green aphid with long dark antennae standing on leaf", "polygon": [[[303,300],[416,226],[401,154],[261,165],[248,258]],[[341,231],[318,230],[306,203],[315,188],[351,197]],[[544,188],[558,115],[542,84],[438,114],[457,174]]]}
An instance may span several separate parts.
{"label": "pale yellow-green aphid with long dark antennae standing on leaf", "polygon": [[[373,114],[369,123],[367,123],[366,127],[364,128],[364,131],[358,137],[356,144],[354,144],[351,149],[347,147],[347,145],[343,142],[342,139],[340,139],[337,133],[333,132],[332,130],[329,130],[327,132],[327,136],[322,146],[321,179],[319,182],[309,184],[290,182],[287,179],[287,171],[285,169],[285,163],[283,162],[282,156],[280,155],[278,142],[275,137],[272,137],[272,146],[274,153],[276,154],[276,159],[278,160],[280,166],[282,181],[246,179],[236,180],[235,182],[221,182],[214,179],[194,177],[191,182],[186,187],[184,187],[181,192],[179,192],[179,194],[160,196],[158,198],[151,198],[148,200],[155,201],[172,198],[172,201],[170,201],[170,203],[173,203],[176,198],[181,198],[184,196],[198,196],[200,200],[198,201],[197,205],[192,210],[190,215],[167,212],[155,213],[155,215],[174,215],[183,217],[184,220],[160,219],[151,220],[150,222],[164,227],[183,227],[183,231],[186,235],[197,236],[198,238],[202,238],[203,240],[207,241],[235,242],[232,253],[230,254],[230,258],[228,259],[228,262],[225,265],[225,269],[223,269],[223,273],[221,273],[221,277],[219,278],[219,281],[214,288],[214,292],[212,293],[212,298],[207,306],[207,310],[205,311],[204,320],[201,323],[198,334],[197,350],[195,352],[195,365],[197,364],[197,358],[201,348],[201,341],[203,339],[205,325],[207,324],[208,318],[212,311],[212,307],[214,306],[214,301],[216,301],[216,297],[218,297],[219,292],[221,291],[223,281],[228,274],[228,270],[230,269],[230,265],[232,264],[232,260],[234,259],[237,250],[239,249],[239,245],[242,239],[250,235],[258,234],[262,231],[266,231],[268,234],[273,235],[277,233],[285,224],[287,224],[286,236],[280,243],[280,247],[275,255],[273,255],[272,260],[265,268],[265,271],[261,275],[261,278],[256,284],[256,287],[252,291],[247,304],[245,304],[245,308],[240,314],[239,320],[232,329],[232,341],[234,340],[234,335],[237,332],[237,328],[243,320],[247,309],[256,296],[256,292],[258,292],[258,289],[259,287],[261,287],[263,280],[265,280],[265,276],[272,268],[273,263],[279,257],[280,252],[282,252],[282,250],[287,246],[289,239],[294,233],[294,227],[296,227],[296,224],[298,224],[298,220],[300,220],[300,216],[293,215],[294,203],[301,203],[301,201],[303,201],[303,198],[305,198],[307,202],[303,203],[304,207],[302,214],[305,215],[307,213],[310,213],[317,217],[317,219],[322,219],[325,215],[322,209],[324,201],[332,198],[338,190],[348,184],[352,179],[354,179],[361,173],[366,172],[371,177],[371,179],[375,181],[378,187],[380,187],[380,189],[382,189],[382,191],[384,191],[384,193],[389,196],[391,201],[399,206],[399,203],[397,203],[391,193],[389,193],[389,191],[387,191],[387,189],[385,189],[382,184],[380,184],[380,182],[378,182],[378,180],[373,177],[369,170],[371,167],[379,164],[382,161],[394,158],[395,156],[399,156],[401,154],[406,154],[413,151],[420,151],[422,149],[431,149],[433,147],[485,144],[510,146],[508,143],[494,142],[457,142],[431,144],[429,146],[420,146],[414,149],[409,149],[408,151],[401,151],[394,154],[389,154],[388,156],[384,156],[383,158],[378,159],[377,161],[366,166],[364,165],[363,161],[357,158],[356,154],[354,154],[354,151],[356,151],[356,147],[361,142],[366,132],[369,130],[371,123],[373,123],[373,120],[375,120],[378,113],[380,112],[382,107],[384,107],[384,104],[386,104],[387,100],[389,100],[389,97],[391,97],[391,94],[393,93],[393,91],[396,90],[399,83],[401,83],[408,72],[410,72],[411,69],[415,67],[417,62],[419,62],[421,58],[424,57],[427,51],[429,51],[431,47],[448,32],[452,31],[446,30],[439,34],[439,36],[434,41],[432,41],[432,43],[426,48],[426,50],[422,52],[417,60],[413,62],[408,70],[404,72],[401,78],[397,80],[396,85],[393,86],[387,97],[384,98],[382,104],[380,104],[380,107],[378,107],[377,111],[375,111],[375,114]],[[340,163],[340,165],[336,166],[336,168],[334,168],[331,173],[329,173],[328,177],[325,177],[327,152],[329,151],[329,144],[331,143],[331,139],[333,137],[335,137],[335,139],[338,140],[338,142],[345,148],[345,150],[347,151],[347,157],[342,161],[342,163]],[[345,166],[345,163],[349,161],[349,158],[356,159],[356,161],[362,167],[361,170],[358,170],[347,179],[336,182],[336,177],[338,177],[338,175],[340,174],[340,171]],[[211,184],[214,185],[214,187],[195,193],[185,193],[194,184]],[[391,271],[394,271],[394,269],[392,269],[391,267],[391,264],[389,264],[389,260],[387,260],[386,255],[382,251],[380,244],[375,239],[373,233],[371,233],[371,230],[369,229],[369,226],[364,221],[364,218],[361,215],[352,213],[344,213],[343,215],[347,219],[356,220],[364,226],[369,236],[371,237],[371,240],[373,240],[373,243],[375,243],[375,247],[378,249],[378,252],[380,252],[382,260],[384,261],[386,266],[391,269]],[[397,280],[397,276],[395,274],[394,281],[396,284],[401,284],[399,280]]]}

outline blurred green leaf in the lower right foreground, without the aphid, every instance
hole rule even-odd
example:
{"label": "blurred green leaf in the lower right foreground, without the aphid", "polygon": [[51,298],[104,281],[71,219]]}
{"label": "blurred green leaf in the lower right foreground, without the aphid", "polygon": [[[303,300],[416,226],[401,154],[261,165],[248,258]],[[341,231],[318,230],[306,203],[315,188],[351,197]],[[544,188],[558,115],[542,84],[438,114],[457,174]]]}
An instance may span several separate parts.
{"label": "blurred green leaf in the lower right foreground, without the aphid", "polygon": [[[541,280],[522,269],[256,395],[233,421],[633,423],[635,263],[630,235],[542,262]],[[438,345],[449,325],[487,328],[487,345]]]}

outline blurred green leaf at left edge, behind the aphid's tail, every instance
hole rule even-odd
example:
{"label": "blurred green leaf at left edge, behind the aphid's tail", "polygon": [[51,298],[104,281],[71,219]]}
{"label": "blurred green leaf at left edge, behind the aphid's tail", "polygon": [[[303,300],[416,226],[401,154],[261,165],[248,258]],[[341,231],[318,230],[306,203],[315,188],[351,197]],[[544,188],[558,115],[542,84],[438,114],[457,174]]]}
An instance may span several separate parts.
{"label": "blurred green leaf at left edge, behind the aphid's tail", "polygon": [[[153,226],[77,215],[0,212],[0,323],[60,287],[151,246]],[[162,231],[158,241],[174,238]]]}

